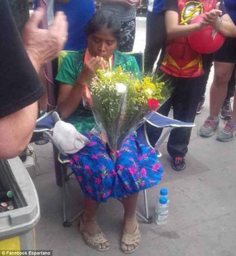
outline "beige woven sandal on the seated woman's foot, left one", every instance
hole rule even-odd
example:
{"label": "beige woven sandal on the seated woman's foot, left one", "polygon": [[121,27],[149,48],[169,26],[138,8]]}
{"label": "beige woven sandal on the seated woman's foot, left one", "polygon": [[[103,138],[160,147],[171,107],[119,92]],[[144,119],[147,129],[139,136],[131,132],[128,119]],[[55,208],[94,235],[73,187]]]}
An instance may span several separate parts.
{"label": "beige woven sandal on the seated woman's foot, left one", "polygon": [[[84,241],[93,249],[103,252],[110,248],[110,244],[109,244],[108,240],[106,239],[105,234],[103,234],[101,230],[93,236],[86,229],[86,227],[84,227],[81,219],[78,223],[78,228],[83,235]],[[102,248],[102,244],[105,244],[106,248]]]}

